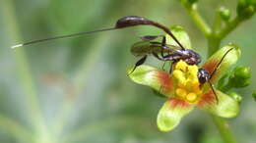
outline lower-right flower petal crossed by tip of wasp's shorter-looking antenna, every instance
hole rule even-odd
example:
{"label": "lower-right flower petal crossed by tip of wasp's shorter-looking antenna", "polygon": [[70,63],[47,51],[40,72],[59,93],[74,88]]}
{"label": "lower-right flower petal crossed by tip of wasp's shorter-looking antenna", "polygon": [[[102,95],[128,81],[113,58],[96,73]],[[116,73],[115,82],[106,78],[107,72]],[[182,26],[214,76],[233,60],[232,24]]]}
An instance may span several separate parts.
{"label": "lower-right flower petal crossed by tip of wasp's shorter-looking antenna", "polygon": [[238,103],[222,91],[217,89],[215,91],[219,99],[218,103],[213,91],[210,91],[203,95],[198,107],[222,118],[236,117],[239,113]]}

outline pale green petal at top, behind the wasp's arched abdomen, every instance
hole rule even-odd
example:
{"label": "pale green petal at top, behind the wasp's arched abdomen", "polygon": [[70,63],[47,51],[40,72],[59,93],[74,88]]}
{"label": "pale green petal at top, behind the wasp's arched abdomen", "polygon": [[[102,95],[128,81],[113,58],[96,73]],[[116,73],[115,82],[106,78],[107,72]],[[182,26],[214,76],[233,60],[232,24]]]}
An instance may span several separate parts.
{"label": "pale green petal at top, behind the wasp's arched abdomen", "polygon": [[[182,44],[182,46],[184,46],[184,48],[192,48],[189,36],[182,26],[174,25],[170,27],[170,30],[178,39],[178,41]],[[169,45],[175,45],[179,47],[179,45],[169,35],[166,35],[166,43]]]}

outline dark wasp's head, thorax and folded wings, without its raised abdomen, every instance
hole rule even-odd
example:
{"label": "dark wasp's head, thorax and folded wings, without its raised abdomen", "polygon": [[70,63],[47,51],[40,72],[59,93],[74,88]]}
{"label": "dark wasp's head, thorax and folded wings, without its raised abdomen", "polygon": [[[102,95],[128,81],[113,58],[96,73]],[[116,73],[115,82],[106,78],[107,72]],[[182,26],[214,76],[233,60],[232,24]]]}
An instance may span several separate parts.
{"label": "dark wasp's head, thorax and folded wings, without its raised abdomen", "polygon": [[[157,37],[159,36],[142,37],[144,41],[137,42],[132,46],[131,53],[136,57],[143,57],[135,64],[133,71],[138,66],[144,64],[148,55],[153,55],[163,62],[172,62],[172,64],[175,64],[180,60],[186,62],[188,65],[199,65],[201,63],[201,56],[197,52],[191,49],[182,49],[174,45],[167,45],[165,43],[165,36],[162,36],[161,42],[150,41]],[[198,79],[201,84],[204,84],[205,82],[210,81],[211,74],[209,71],[200,68],[198,70]]]}

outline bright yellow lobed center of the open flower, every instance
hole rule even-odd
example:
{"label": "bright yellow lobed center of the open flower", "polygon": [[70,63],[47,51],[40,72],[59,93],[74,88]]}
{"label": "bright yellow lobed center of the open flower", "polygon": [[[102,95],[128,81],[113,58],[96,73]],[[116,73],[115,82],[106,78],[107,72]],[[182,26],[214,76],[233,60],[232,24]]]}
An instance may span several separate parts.
{"label": "bright yellow lobed center of the open flower", "polygon": [[176,97],[190,103],[197,101],[198,96],[202,93],[197,73],[198,67],[196,65],[187,65],[182,60],[174,66],[173,76]]}

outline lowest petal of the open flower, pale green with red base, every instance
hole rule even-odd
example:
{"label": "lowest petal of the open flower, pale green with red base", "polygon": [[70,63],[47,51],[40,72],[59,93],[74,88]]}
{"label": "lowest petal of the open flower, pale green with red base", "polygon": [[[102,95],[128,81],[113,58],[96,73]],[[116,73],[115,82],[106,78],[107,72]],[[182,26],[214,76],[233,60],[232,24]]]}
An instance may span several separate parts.
{"label": "lowest petal of the open flower, pale green with red base", "polygon": [[169,131],[176,127],[185,115],[193,109],[193,105],[179,99],[169,99],[160,109],[158,127],[161,131]]}

